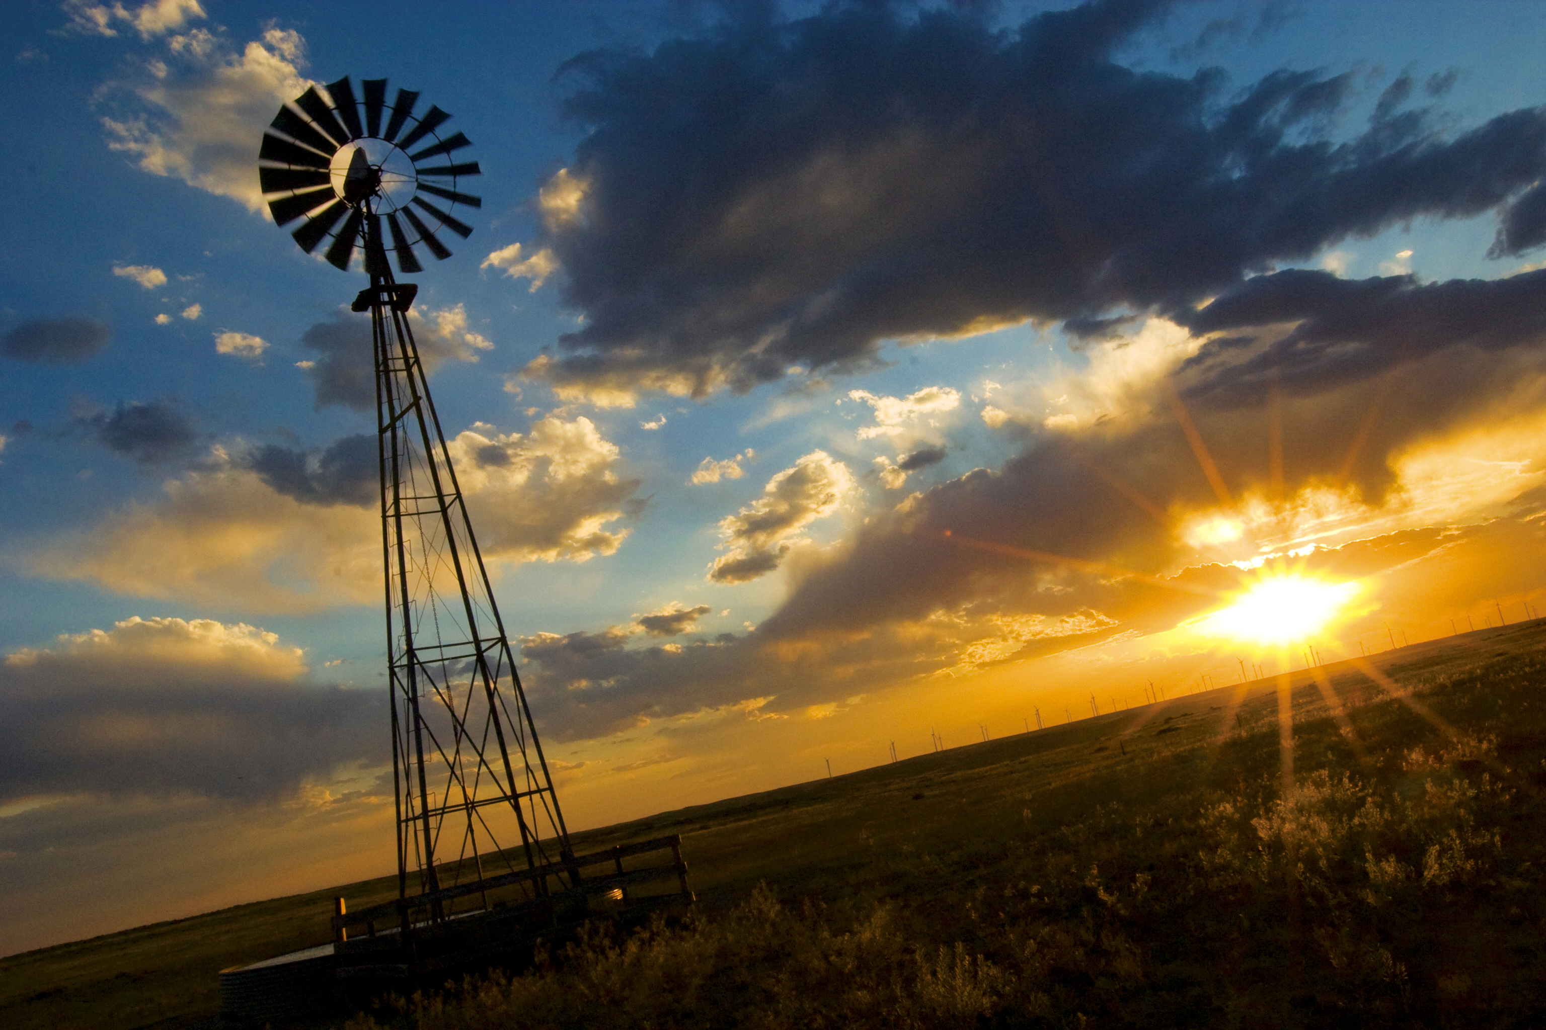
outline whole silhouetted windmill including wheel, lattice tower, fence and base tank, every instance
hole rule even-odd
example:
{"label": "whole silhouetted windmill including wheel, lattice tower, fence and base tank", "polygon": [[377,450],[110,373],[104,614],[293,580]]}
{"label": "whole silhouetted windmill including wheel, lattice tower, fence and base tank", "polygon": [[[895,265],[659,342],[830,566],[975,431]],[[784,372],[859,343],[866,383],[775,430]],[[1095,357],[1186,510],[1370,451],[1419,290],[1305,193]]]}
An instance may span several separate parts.
{"label": "whole silhouetted windmill including wheel, lattice tower, fence and base tank", "polygon": [[[444,977],[501,957],[527,959],[589,916],[642,919],[691,905],[682,837],[614,843],[577,856],[558,808],[484,568],[456,468],[430,398],[410,310],[414,247],[451,252],[453,212],[481,207],[459,184],[472,142],[442,136],[450,114],[416,113],[419,94],[386,80],[312,86],[263,133],[258,181],[269,212],[306,253],[369,276],[351,304],[371,318],[380,442],[386,670],[397,815],[397,899],[345,911],[334,944],[221,970],[221,1013],[275,1021],[335,1005],[340,984]],[[662,860],[662,854],[669,859]],[[359,931],[363,930],[363,936]],[[351,937],[351,931],[356,934]],[[348,991],[345,991],[348,993]]]}

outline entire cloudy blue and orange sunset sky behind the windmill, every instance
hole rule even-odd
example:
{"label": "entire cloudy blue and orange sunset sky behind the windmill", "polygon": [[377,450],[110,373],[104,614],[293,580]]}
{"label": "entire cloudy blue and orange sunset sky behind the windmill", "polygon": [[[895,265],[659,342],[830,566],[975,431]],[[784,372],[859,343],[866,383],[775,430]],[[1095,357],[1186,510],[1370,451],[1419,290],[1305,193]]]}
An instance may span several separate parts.
{"label": "entire cloudy blue and orange sunset sky behind the windmill", "polygon": [[391,866],[363,275],[255,171],[342,76],[484,170],[414,324],[570,826],[1546,601],[1538,5],[0,28],[0,953]]}

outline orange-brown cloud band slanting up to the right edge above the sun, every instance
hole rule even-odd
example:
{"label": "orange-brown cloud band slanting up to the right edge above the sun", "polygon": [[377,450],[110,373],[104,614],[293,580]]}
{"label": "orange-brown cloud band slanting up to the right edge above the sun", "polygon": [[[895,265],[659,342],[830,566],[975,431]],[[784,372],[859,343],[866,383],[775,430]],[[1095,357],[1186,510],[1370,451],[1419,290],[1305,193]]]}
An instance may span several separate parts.
{"label": "orange-brown cloud band slanting up to the right edge above the sun", "polygon": [[[1345,483],[1381,505],[1396,483],[1391,454],[1473,425],[1504,397],[1521,411],[1546,400],[1538,349],[1478,360],[1467,347],[1446,347],[1385,375],[1285,395],[1286,496]],[[1184,513],[1220,507],[1169,406],[1153,400],[1153,414],[1125,431],[1031,431],[1025,449],[1000,468],[974,469],[870,517],[844,550],[807,567],[759,633],[861,633],[962,605],[1061,615],[1084,604],[1125,619],[1116,599],[1081,590],[1124,571],[1163,574],[1195,561],[1177,523]],[[1237,499],[1268,494],[1266,412],[1209,403],[1190,409],[1228,491]],[[1068,588],[1074,593],[1061,593]],[[1160,621],[1147,629],[1173,625],[1190,604],[1172,591],[1170,601],[1156,601]]]}

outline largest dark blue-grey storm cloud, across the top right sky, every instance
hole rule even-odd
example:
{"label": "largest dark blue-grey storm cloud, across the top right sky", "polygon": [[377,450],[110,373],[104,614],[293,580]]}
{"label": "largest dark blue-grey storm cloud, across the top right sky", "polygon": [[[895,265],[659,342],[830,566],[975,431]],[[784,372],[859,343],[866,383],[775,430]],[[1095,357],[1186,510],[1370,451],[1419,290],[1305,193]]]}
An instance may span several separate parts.
{"label": "largest dark blue-grey storm cloud, across the top right sky", "polygon": [[[1351,73],[1231,93],[1215,69],[1116,63],[1166,6],[994,31],[969,6],[836,5],[577,57],[564,113],[587,136],[566,174],[584,195],[574,216],[549,207],[544,244],[586,324],[529,372],[748,389],[795,363],[863,368],[884,338],[1098,326],[1419,215],[1497,208],[1546,171],[1541,110],[1444,136],[1399,79],[1333,139],[1360,99]],[[1532,204],[1507,246],[1535,238]]]}

